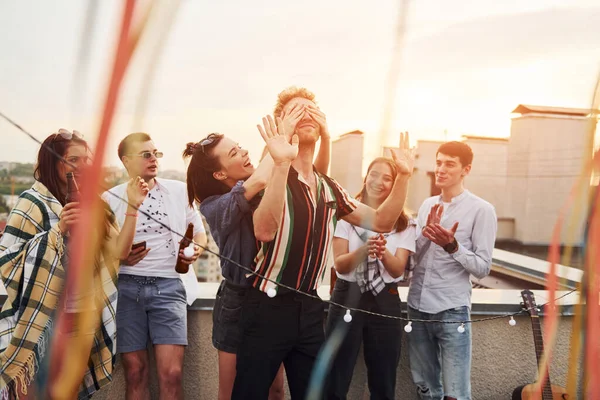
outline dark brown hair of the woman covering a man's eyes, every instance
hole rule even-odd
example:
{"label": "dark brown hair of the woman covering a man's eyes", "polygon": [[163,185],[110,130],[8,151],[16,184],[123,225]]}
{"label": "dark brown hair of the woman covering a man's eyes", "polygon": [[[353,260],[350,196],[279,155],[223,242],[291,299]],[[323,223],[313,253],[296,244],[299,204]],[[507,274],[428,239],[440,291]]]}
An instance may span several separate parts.
{"label": "dark brown hair of the woman covering a man's eyes", "polygon": [[210,196],[229,193],[231,188],[220,180],[215,179],[213,173],[221,169],[219,159],[213,154],[217,144],[223,139],[220,133],[211,133],[208,138],[213,140],[206,145],[198,143],[188,143],[183,150],[183,158],[191,157],[187,170],[187,188],[188,202],[194,206],[194,201],[202,202]]}

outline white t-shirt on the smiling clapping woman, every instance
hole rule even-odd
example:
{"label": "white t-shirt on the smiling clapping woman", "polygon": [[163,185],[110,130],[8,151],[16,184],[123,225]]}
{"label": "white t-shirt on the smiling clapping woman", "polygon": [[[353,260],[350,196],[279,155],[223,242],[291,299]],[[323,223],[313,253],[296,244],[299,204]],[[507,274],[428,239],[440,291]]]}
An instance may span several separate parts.
{"label": "white t-shirt on the smiling clapping woman", "polygon": [[[358,232],[363,232],[365,230],[360,227],[356,227],[356,229],[358,230]],[[375,235],[377,235],[376,232],[371,232],[371,231],[367,230],[368,237],[372,237]],[[354,251],[365,244],[362,241],[362,239],[360,238],[360,236],[358,236],[356,231],[353,229],[352,225],[343,220],[338,221],[337,227],[335,228],[334,236],[337,238],[340,238],[340,239],[346,239],[348,241],[348,250],[349,251]],[[406,250],[410,251],[412,254],[415,252],[415,240],[416,240],[415,226],[409,225],[408,228],[406,228],[402,232],[391,233],[386,238],[386,240],[387,240],[387,244],[385,245],[385,247],[390,251],[390,253],[395,255],[396,250],[400,248],[400,249],[406,249]],[[365,262],[366,262],[366,260],[363,261],[362,264],[364,264]],[[359,267],[357,267],[357,269]],[[407,265],[407,267],[408,267],[408,265]],[[348,281],[348,282],[356,282],[356,276],[355,276],[356,269],[347,274],[340,274],[337,271],[335,273],[338,276],[338,278],[342,278],[343,280]],[[387,272],[387,270],[381,263],[379,264],[379,273],[381,274],[381,277],[383,278],[383,281],[385,283],[398,282],[398,281],[402,280],[402,277],[398,277],[396,279],[392,278],[392,276]]]}

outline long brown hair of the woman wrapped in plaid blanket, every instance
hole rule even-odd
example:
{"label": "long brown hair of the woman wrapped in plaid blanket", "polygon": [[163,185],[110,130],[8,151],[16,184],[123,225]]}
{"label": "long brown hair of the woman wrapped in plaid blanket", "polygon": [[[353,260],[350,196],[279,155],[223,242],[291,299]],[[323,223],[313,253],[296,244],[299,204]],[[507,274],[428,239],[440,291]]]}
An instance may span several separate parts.
{"label": "long brown hair of the woman wrapped in plaid blanket", "polygon": [[[89,149],[88,144],[85,140],[73,136],[71,139],[65,139],[58,133],[53,133],[44,140],[40,151],[38,152],[37,162],[33,177],[52,193],[54,197],[62,204],[65,205],[65,194],[61,192],[61,180],[58,176],[57,164],[64,162],[60,157],[64,157],[67,154],[69,146],[82,145],[86,149]],[[56,154],[55,154],[56,153]]]}

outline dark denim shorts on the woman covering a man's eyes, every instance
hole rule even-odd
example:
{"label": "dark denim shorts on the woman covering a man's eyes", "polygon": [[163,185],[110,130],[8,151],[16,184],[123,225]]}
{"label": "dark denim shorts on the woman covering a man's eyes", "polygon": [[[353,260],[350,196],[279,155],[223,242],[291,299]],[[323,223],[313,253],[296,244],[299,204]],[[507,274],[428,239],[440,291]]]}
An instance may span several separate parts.
{"label": "dark denim shorts on the woman covering a man's eyes", "polygon": [[213,308],[213,346],[236,354],[242,340],[240,316],[248,288],[222,281]]}

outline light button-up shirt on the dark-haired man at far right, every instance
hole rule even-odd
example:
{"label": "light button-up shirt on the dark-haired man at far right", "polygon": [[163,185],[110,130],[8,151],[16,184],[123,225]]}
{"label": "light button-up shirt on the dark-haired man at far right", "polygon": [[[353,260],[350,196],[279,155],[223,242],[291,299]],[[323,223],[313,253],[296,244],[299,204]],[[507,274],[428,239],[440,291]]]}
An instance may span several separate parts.
{"label": "light button-up shirt on the dark-haired man at far right", "polygon": [[409,307],[430,314],[456,307],[471,307],[471,275],[490,273],[498,219],[487,201],[465,190],[444,204],[441,225],[450,229],[458,222],[458,250],[447,253],[422,235],[431,207],[441,196],[423,202],[417,217],[415,267],[408,291]]}

